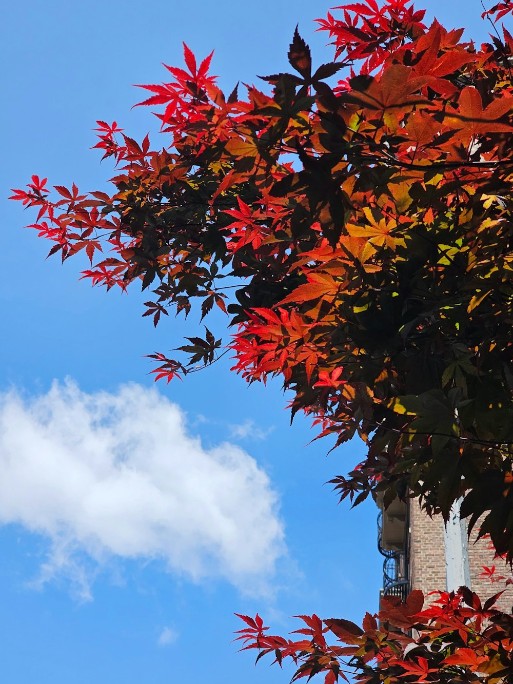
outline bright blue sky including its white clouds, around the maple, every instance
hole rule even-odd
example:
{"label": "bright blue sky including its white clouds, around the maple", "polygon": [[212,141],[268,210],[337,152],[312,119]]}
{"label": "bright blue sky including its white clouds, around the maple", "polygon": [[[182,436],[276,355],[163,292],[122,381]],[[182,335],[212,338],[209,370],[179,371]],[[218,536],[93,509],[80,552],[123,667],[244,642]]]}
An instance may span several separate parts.
{"label": "bright blue sky including its white clouds, around the maple", "polygon": [[[420,4],[417,5],[419,8]],[[157,131],[133,83],[181,65],[181,41],[215,48],[213,73],[237,81],[285,68],[296,23],[330,60],[300,0],[9,3],[1,28],[2,198],[29,175],[101,189],[92,128]],[[430,1],[448,28],[483,40],[477,1]],[[360,620],[377,607],[376,508],[337,507],[326,480],[358,460],[326,457],[308,423],[289,427],[279,383],[246,386],[229,361],[168,387],[143,358],[196,321],[153,330],[140,293],[77,282],[77,261],[44,261],[3,201],[0,302],[0,679],[10,684],[288,681],[237,654],[233,613],[274,629],[317,613]],[[220,328],[222,319],[215,321]],[[193,332],[194,334],[194,332]],[[122,465],[120,465],[122,462]]]}

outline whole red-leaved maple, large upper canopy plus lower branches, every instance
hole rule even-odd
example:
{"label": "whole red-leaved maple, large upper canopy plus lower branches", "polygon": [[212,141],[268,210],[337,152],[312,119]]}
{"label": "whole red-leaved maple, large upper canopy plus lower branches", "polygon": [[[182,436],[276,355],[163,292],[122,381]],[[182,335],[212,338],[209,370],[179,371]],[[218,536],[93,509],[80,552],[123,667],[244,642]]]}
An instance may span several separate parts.
{"label": "whole red-leaved maple, large upper canopy plus lower branches", "polygon": [[[479,521],[479,536],[512,562],[513,37],[502,27],[502,38],[477,49],[462,29],[426,27],[424,12],[406,4],[366,0],[318,20],[335,46],[329,64],[313,65],[296,29],[294,73],[262,77],[272,92],[246,86],[244,98],[216,86],[212,55],[198,66],[184,46],[186,70],[168,66],[170,82],[142,86],[150,97],[140,104],[161,107],[162,150],[98,121],[96,147],[118,169],[112,195],[57,185],[53,199],[33,176],[13,198],[39,207],[33,227],[53,242],[50,254],[86,251],[93,285],[157,281],[143,314],[155,325],[173,306],[187,316],[195,298],[201,319],[214,305],[228,315],[235,334],[224,352],[205,328],[179,347],[188,360],[150,355],[156,380],[231,350],[248,382],[280,376],[292,417],[312,417],[319,437],[333,435],[337,447],[358,434],[367,445],[365,460],[332,481],[341,499],[419,497],[447,519],[465,495],[469,528]],[[512,10],[505,0],[484,15],[497,22]],[[107,248],[114,256],[93,265]],[[349,629],[358,649],[341,654],[360,663],[364,680],[384,676],[383,663],[399,655],[412,660],[417,650],[406,658],[412,642],[396,634],[406,615],[421,634],[417,663],[431,669],[397,663],[399,679],[430,681],[435,660],[452,679],[479,671],[493,681],[501,668],[477,660],[497,656],[503,666],[510,618],[469,596],[443,596],[442,617],[421,622],[411,606],[384,607],[386,639],[368,622],[364,634],[380,636],[367,649],[367,636],[346,625],[342,638]],[[480,631],[481,610],[492,635]],[[322,627],[308,620],[321,653]],[[248,624],[251,646],[276,646],[260,622]],[[298,651],[278,644],[278,661],[284,648]],[[450,658],[462,649],[477,660],[455,674]],[[374,657],[381,664],[369,674]],[[337,668],[321,664],[334,681]]]}

